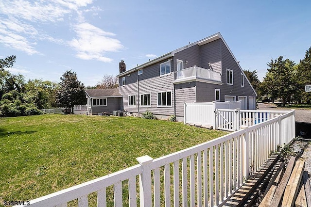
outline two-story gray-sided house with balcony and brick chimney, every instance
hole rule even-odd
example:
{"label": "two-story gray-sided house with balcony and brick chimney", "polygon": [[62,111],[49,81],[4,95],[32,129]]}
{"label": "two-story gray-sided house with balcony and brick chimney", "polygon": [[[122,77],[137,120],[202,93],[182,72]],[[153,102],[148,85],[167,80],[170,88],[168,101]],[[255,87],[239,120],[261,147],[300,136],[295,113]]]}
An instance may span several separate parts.
{"label": "two-story gray-sided house with balcony and brick chimney", "polygon": [[256,109],[256,92],[218,32],[128,71],[120,63],[119,92],[123,110],[181,121],[184,102],[242,101]]}

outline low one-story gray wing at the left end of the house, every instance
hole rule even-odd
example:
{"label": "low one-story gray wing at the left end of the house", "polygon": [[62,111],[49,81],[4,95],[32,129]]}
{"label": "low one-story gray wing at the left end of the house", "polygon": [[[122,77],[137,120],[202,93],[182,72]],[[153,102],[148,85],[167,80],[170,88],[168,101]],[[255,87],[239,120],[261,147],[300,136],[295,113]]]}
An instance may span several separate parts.
{"label": "low one-story gray wing at the left end of the house", "polygon": [[112,89],[86,89],[87,106],[91,113],[97,115],[101,112],[123,110],[122,95],[119,88]]}

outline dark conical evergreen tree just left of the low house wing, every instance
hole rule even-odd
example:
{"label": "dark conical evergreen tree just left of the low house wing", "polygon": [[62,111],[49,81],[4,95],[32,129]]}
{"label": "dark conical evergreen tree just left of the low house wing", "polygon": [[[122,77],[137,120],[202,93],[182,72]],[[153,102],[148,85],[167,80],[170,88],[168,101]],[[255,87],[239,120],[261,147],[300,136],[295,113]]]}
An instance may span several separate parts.
{"label": "dark conical evergreen tree just left of the low house wing", "polygon": [[71,108],[74,105],[86,105],[85,86],[78,80],[77,74],[66,71],[60,78],[59,87],[55,93],[55,100],[58,106]]}

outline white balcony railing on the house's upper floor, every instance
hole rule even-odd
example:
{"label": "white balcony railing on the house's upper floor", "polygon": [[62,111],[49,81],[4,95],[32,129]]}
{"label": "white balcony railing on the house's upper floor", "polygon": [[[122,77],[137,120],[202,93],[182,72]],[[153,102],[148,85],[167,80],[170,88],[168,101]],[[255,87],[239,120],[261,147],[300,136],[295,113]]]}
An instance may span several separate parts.
{"label": "white balcony railing on the house's upper floor", "polygon": [[206,80],[222,81],[220,73],[196,65],[175,72],[175,80],[186,78],[200,78]]}

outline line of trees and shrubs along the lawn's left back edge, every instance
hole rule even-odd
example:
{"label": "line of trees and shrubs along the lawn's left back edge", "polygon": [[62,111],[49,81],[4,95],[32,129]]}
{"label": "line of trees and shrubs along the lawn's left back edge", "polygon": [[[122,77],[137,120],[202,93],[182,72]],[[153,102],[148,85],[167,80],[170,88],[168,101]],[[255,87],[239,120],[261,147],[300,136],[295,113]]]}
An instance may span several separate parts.
{"label": "line of trees and shrubs along the lawn's left back edge", "polygon": [[95,87],[85,87],[73,71],[66,71],[60,82],[49,80],[25,80],[21,74],[9,72],[16,56],[0,59],[0,116],[23,116],[40,114],[40,109],[86,105],[86,88],[115,88],[118,80],[113,75],[104,75]]}

